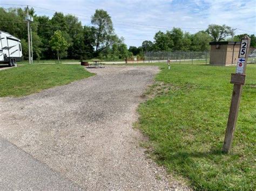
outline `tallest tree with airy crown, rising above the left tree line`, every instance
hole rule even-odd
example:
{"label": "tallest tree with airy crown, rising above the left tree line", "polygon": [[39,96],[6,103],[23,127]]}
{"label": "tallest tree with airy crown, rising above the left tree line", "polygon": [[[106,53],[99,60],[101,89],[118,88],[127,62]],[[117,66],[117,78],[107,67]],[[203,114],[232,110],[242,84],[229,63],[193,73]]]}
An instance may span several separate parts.
{"label": "tallest tree with airy crown, rising above the left tree line", "polygon": [[109,14],[103,9],[97,9],[91,18],[95,25],[96,53],[111,46],[116,39],[113,34],[113,23]]}

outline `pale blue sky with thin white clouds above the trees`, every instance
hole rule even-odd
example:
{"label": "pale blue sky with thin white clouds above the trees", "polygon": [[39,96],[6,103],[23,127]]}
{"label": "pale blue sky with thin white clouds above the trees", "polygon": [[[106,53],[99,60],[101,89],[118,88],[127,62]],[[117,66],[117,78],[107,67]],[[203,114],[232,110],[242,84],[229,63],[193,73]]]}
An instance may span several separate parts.
{"label": "pale blue sky with thin white clouds above the trees", "polygon": [[196,33],[209,24],[226,24],[236,29],[235,34],[256,33],[256,0],[0,0],[4,8],[18,5],[33,6],[37,15],[49,17],[53,16],[52,10],[71,13],[83,25],[91,25],[96,9],[104,9],[112,18],[115,33],[124,37],[128,47],[154,41],[156,32],[172,27]]}

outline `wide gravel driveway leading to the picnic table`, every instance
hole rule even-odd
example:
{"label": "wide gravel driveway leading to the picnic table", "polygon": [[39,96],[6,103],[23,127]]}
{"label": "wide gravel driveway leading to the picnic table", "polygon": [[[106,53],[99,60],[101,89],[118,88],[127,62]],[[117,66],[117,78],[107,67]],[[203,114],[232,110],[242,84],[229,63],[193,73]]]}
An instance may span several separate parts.
{"label": "wide gravel driveway leading to the picnic table", "polygon": [[158,67],[88,70],[97,75],[0,98],[0,135],[84,189],[187,188],[147,157],[132,128]]}

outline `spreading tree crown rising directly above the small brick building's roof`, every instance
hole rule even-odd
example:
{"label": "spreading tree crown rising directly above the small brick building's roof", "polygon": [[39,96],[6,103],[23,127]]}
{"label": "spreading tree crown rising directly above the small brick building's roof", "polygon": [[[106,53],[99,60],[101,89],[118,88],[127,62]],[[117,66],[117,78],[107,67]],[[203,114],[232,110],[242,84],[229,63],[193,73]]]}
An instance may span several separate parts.
{"label": "spreading tree crown rising directly above the small brick building's roof", "polygon": [[206,30],[208,34],[211,35],[213,40],[216,41],[222,41],[225,40],[226,37],[230,36],[232,34],[232,30],[230,26],[226,25],[208,25],[208,29]]}

